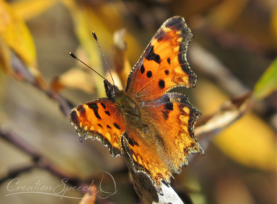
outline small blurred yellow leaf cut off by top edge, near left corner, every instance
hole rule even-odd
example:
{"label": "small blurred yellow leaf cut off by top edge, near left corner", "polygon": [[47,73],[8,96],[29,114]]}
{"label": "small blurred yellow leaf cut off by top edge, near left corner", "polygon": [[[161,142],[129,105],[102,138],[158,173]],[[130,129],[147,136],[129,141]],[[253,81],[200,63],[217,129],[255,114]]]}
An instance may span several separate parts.
{"label": "small blurred yellow leaf cut off by top edge, near left corner", "polygon": [[12,2],[10,6],[25,21],[37,17],[60,0],[25,0]]}

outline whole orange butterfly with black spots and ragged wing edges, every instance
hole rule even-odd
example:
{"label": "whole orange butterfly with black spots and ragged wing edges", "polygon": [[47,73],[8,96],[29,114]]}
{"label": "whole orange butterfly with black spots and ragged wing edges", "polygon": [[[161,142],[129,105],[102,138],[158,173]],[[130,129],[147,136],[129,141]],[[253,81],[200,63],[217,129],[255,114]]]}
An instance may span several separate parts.
{"label": "whole orange butterfly with black spots and ragged wing edges", "polygon": [[107,98],[72,109],[80,140],[100,140],[112,157],[127,153],[135,172],[143,172],[161,193],[188,165],[189,154],[204,154],[194,136],[201,112],[177,86],[194,88],[197,76],[186,59],[193,38],[183,17],[168,19],[132,68],[125,91],[104,80]]}

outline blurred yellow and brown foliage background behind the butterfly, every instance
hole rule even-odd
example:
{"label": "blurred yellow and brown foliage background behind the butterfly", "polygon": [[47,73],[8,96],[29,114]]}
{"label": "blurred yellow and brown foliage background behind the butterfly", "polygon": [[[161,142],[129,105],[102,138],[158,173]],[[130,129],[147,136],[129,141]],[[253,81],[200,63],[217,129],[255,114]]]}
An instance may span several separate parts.
{"label": "blurred yellow and brown foliage background behind the butterfly", "polygon": [[[254,91],[251,109],[218,131],[204,156],[172,180],[184,203],[274,204],[277,131],[276,0],[0,0],[0,203],[80,203],[47,194],[10,194],[18,186],[90,185],[102,171],[116,194],[96,203],[142,203],[122,158],[96,140],[79,142],[73,106],[105,97],[109,79],[91,35],[95,31],[116,84],[166,19],[186,19],[195,36],[188,62],[198,76],[188,95],[202,118],[223,102]],[[268,83],[270,82],[270,83]],[[102,189],[113,192],[104,176]],[[99,192],[104,197],[104,193]],[[84,192],[66,196],[82,198]],[[106,195],[107,196],[107,195]]]}

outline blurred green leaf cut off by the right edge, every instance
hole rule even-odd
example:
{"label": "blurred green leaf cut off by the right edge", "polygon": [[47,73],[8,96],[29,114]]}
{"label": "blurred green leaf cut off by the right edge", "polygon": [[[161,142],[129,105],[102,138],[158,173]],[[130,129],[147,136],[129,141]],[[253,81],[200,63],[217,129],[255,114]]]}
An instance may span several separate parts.
{"label": "blurred green leaf cut off by the right edge", "polygon": [[261,100],[277,90],[277,58],[260,77],[254,89],[254,96]]}

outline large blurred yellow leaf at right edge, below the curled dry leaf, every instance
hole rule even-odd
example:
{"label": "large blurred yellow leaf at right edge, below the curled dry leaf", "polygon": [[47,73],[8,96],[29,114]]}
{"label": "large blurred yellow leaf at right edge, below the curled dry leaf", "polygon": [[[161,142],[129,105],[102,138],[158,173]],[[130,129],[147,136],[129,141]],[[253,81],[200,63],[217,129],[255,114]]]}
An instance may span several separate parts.
{"label": "large blurred yellow leaf at right edge, below the curled dry leaf", "polygon": [[213,141],[233,160],[263,170],[276,169],[275,133],[254,113],[244,115]]}

